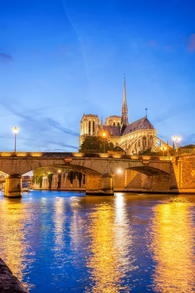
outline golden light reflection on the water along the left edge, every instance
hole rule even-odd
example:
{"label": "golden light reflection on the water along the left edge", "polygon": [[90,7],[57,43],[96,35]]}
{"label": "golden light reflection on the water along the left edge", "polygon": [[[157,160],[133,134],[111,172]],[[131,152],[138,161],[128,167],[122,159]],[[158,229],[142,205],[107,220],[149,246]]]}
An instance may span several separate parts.
{"label": "golden light reflection on the water along the left edge", "polygon": [[[27,205],[20,200],[7,199],[0,202],[0,257],[28,289],[34,287],[23,281],[25,274],[29,273],[27,255],[30,247],[25,239],[25,223],[30,222],[30,217]],[[33,259],[30,261],[32,263]]]}

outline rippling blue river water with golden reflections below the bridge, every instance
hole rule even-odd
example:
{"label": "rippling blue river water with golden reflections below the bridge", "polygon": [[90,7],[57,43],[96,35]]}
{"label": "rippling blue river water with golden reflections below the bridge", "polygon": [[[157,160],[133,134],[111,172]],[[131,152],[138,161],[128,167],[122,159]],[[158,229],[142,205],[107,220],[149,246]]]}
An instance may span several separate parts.
{"label": "rippling blue river water with golden reflections below the bridge", "polygon": [[195,292],[195,196],[1,192],[0,257],[31,293]]}

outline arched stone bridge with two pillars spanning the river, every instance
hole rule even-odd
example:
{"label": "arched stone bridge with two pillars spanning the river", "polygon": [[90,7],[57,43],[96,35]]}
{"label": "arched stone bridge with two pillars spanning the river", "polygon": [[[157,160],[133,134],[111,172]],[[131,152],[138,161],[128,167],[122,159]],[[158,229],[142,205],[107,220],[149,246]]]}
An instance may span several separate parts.
{"label": "arched stone bridge with two pillars spanning the river", "polygon": [[86,175],[86,194],[114,194],[118,170],[133,169],[148,176],[169,175],[171,160],[157,156],[102,153],[0,152],[0,171],[7,174],[4,196],[21,197],[21,175],[41,167],[66,167]]}

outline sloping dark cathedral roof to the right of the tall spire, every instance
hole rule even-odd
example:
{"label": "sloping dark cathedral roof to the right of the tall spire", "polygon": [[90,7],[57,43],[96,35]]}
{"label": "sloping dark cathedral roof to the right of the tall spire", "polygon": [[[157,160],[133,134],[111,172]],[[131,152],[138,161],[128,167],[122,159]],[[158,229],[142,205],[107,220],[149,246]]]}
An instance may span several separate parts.
{"label": "sloping dark cathedral roof to the right of the tall spire", "polygon": [[145,116],[135,122],[128,124],[122,135],[132,133],[141,129],[155,129],[155,127],[150,123],[148,118]]}

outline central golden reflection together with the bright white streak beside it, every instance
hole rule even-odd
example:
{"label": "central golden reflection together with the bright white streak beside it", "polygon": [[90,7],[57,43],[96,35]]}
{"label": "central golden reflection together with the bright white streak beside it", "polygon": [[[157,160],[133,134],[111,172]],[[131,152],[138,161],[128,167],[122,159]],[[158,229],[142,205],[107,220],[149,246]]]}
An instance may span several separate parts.
{"label": "central golden reflection together with the bright white streak beside it", "polygon": [[[89,215],[91,238],[87,267],[92,284],[87,292],[129,292],[130,285],[122,285],[132,261],[131,230],[125,214],[124,197],[116,197],[115,206],[108,203],[96,205]],[[126,279],[126,284],[128,284]]]}

